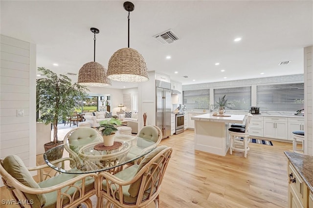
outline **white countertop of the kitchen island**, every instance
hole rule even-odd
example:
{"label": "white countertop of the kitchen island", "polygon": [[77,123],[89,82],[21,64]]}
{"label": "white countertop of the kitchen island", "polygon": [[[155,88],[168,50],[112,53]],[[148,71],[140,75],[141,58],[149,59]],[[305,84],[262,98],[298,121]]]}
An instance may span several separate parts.
{"label": "white countertop of the kitchen island", "polygon": [[244,122],[245,115],[230,115],[227,117],[213,116],[211,113],[202,114],[199,116],[191,117],[191,120],[196,121],[210,121],[210,122],[224,122],[224,123],[239,123]]}

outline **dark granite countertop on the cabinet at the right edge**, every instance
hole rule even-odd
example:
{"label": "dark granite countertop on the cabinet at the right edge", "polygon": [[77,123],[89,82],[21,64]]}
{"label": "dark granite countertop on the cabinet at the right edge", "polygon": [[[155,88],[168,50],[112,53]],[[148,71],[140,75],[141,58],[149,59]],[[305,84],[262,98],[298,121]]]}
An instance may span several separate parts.
{"label": "dark granite countertop on the cabinet at the right edge", "polygon": [[307,187],[313,192],[313,156],[295,152],[284,152],[288,160],[298,171]]}

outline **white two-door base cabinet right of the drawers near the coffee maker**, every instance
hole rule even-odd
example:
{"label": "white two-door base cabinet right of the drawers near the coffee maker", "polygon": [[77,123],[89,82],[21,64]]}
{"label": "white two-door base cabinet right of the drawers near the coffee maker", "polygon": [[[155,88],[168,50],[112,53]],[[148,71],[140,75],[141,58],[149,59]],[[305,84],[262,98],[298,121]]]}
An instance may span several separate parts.
{"label": "white two-door base cabinet right of the drawers near the coffee maker", "polygon": [[288,118],[287,117],[265,117],[263,136],[288,140]]}

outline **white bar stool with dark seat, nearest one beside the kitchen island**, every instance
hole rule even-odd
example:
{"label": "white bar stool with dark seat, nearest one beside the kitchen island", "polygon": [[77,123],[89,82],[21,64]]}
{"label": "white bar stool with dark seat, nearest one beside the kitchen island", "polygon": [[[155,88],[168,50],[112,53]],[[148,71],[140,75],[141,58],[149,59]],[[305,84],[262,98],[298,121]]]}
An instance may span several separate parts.
{"label": "white bar stool with dark seat, nearest one beside the kitchen island", "polygon": [[[240,127],[232,127],[228,129],[228,133],[230,135],[230,147],[229,147],[229,153],[233,154],[233,150],[243,151],[244,156],[246,158],[247,152],[250,150],[250,147],[248,146],[248,137],[250,135],[249,133],[249,124],[250,120],[252,118],[252,114],[248,113],[246,117],[246,128],[240,128]],[[235,138],[236,137],[243,137],[244,141],[243,144],[241,144],[240,147],[235,146]]]}

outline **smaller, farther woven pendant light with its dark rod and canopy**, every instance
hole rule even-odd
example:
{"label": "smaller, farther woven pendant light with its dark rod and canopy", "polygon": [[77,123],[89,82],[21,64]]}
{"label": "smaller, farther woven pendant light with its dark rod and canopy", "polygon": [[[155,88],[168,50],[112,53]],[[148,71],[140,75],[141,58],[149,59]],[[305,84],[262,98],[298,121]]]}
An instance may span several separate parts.
{"label": "smaller, farther woven pendant light with its dark rod and canopy", "polygon": [[107,70],[98,62],[95,62],[96,34],[99,33],[97,28],[90,28],[94,33],[93,62],[88,62],[80,68],[78,72],[78,83],[84,86],[110,86],[111,81],[107,78]]}

